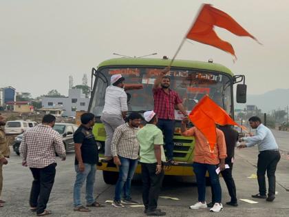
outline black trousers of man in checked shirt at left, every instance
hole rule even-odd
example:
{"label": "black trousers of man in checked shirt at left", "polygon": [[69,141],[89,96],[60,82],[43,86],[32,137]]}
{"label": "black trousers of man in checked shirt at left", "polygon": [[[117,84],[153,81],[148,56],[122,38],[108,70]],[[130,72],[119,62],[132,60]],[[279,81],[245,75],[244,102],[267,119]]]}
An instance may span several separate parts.
{"label": "black trousers of man in checked shirt at left", "polygon": [[36,207],[36,214],[41,214],[46,209],[54,184],[55,167],[56,163],[43,168],[30,167],[34,180],[32,181],[29,203],[31,207]]}

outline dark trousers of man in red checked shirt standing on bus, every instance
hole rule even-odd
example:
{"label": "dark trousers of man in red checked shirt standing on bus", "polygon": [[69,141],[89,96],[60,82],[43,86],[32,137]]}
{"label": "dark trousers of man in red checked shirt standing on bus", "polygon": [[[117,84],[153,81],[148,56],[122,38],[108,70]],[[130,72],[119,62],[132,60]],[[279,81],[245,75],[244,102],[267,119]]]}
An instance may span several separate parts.
{"label": "dark trousers of man in red checked shirt standing on bus", "polygon": [[167,160],[173,160],[173,133],[175,132],[175,121],[158,119],[157,125],[164,134],[164,149],[166,149]]}

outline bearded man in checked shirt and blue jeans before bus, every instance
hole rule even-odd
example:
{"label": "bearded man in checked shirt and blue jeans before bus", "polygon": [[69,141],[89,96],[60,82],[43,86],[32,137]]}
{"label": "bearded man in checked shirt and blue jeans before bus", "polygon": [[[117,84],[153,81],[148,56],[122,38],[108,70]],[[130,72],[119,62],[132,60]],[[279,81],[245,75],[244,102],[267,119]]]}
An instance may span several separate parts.
{"label": "bearded man in checked shirt and blue jeans before bus", "polygon": [[140,126],[142,116],[138,113],[131,113],[128,122],[118,126],[114,132],[111,142],[111,154],[114,156],[114,163],[118,165],[119,176],[116,183],[114,202],[112,205],[117,208],[124,208],[120,202],[120,194],[123,189],[123,202],[126,204],[137,204],[131,199],[131,179],[138,166],[138,151],[140,144],[136,138],[136,132]]}

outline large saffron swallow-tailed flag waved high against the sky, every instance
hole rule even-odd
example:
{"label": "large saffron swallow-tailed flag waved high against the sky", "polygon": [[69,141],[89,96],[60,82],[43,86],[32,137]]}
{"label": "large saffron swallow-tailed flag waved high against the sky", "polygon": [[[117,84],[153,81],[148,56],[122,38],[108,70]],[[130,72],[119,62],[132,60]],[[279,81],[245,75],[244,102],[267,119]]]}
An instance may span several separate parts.
{"label": "large saffron swallow-tailed flag waved high against the sky", "polygon": [[[203,4],[195,23],[188,34],[186,34],[186,39],[212,45],[215,48],[219,48],[235,56],[235,51],[231,43],[223,41],[217,36],[214,25],[224,28],[237,36],[246,36],[255,39],[252,34],[242,28],[232,17],[222,12],[222,10],[213,8],[210,4]],[[257,41],[257,39],[255,40]]]}

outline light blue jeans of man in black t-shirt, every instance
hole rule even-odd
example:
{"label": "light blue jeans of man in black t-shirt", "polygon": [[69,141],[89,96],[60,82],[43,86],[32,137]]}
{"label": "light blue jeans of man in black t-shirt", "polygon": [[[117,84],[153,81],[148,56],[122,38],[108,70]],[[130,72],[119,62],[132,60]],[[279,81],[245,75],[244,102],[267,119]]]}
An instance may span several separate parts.
{"label": "light blue jeans of man in black t-shirt", "polygon": [[83,183],[86,180],[85,186],[85,199],[87,204],[94,203],[94,180],[96,178],[96,165],[84,163],[85,171],[79,172],[78,165],[75,165],[76,171],[76,180],[74,183],[74,192],[73,192],[73,199],[74,199],[74,207],[81,206],[81,187],[83,187]]}

